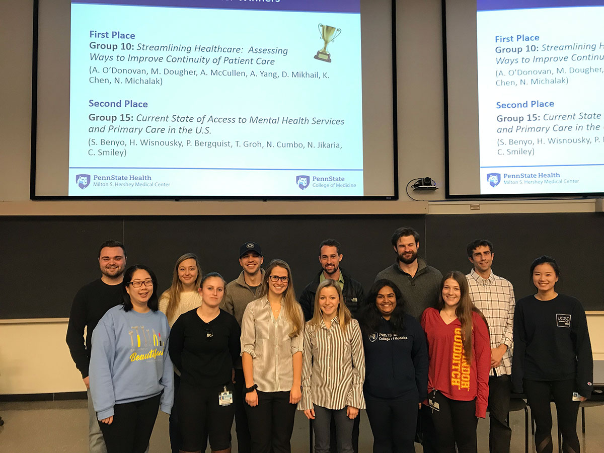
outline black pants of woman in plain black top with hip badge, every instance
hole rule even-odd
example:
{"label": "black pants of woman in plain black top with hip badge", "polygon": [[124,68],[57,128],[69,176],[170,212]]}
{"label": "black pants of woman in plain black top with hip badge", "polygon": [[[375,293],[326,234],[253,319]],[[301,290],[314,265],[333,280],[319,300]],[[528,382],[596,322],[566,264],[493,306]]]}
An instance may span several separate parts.
{"label": "black pants of woman in plain black top with hip badge", "polygon": [[[233,391],[233,383],[227,384],[226,390]],[[235,405],[219,404],[218,396],[222,391],[222,385],[202,388],[181,382],[176,404],[182,451],[205,451],[208,437],[211,449],[230,448]]]}

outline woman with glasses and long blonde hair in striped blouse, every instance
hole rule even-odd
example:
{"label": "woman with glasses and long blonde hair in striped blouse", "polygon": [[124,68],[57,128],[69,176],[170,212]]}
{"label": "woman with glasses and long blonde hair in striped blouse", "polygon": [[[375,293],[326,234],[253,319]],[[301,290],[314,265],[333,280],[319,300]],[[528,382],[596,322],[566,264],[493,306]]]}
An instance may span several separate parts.
{"label": "woman with glasses and long blonde hair in striped blouse", "polygon": [[272,260],[241,324],[252,453],[289,453],[301,399],[303,315],[288,263]]}

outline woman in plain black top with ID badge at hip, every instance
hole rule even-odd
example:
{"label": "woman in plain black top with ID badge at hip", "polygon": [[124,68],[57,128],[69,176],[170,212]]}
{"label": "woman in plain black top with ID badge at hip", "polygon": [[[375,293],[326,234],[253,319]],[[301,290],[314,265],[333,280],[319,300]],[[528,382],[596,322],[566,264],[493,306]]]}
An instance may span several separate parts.
{"label": "woman in plain black top with ID badge at hip", "polygon": [[233,362],[239,358],[241,330],[233,315],[219,308],[225,291],[220,274],[201,281],[202,304],[179,316],[170,332],[170,357],[181,370],[176,394],[181,452],[202,452],[210,438],[214,453],[230,453]]}

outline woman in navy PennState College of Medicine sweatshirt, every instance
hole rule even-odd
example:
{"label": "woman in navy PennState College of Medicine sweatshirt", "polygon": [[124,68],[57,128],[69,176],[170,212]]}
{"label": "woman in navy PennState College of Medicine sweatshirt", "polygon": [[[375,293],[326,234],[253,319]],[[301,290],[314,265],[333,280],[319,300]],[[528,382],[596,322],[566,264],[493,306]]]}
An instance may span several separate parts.
{"label": "woman in navy PennState College of Medicine sweatshirt", "polygon": [[428,393],[428,349],[396,284],[373,283],[359,316],[365,349],[365,404],[374,453],[414,453],[417,411]]}

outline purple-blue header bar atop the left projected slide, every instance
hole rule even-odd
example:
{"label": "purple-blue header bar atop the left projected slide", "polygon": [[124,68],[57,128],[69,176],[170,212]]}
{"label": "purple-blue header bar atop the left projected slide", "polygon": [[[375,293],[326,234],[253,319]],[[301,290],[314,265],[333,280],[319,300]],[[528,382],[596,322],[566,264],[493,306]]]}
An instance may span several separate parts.
{"label": "purple-blue header bar atop the left projected slide", "polygon": [[360,0],[88,0],[72,3],[228,10],[361,12]]}

